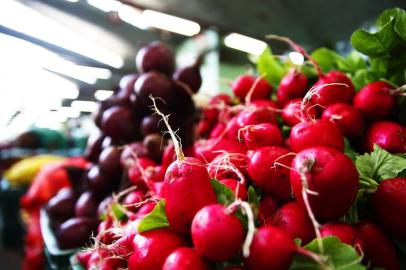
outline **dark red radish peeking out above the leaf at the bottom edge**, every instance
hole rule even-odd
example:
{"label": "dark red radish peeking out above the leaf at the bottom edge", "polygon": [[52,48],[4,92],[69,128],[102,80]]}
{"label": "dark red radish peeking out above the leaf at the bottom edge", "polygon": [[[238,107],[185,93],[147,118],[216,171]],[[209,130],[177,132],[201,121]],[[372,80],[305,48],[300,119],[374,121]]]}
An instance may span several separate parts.
{"label": "dark red radish peeking out above the leaf at the bottom edge", "polygon": [[343,222],[326,223],[320,228],[320,234],[322,237],[336,236],[344,244],[355,247],[360,254],[364,253],[364,243],[361,236],[351,225]]}

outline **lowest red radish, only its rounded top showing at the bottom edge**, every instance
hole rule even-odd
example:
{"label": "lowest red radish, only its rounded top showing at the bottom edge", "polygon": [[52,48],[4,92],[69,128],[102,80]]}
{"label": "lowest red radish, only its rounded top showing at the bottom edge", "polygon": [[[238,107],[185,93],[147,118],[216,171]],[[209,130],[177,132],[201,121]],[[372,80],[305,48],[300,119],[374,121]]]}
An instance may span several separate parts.
{"label": "lowest red radish, only its rounded top showing at the bottom edge", "polygon": [[165,260],[162,270],[209,270],[207,262],[192,248],[174,250]]}

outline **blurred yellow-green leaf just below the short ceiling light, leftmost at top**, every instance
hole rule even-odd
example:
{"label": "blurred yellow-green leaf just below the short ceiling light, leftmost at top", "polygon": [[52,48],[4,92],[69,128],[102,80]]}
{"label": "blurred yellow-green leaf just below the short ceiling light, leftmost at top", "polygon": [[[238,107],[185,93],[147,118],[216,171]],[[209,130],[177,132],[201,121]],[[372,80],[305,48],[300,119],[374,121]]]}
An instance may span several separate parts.
{"label": "blurred yellow-green leaf just below the short ceiling light, leftmost at top", "polygon": [[259,56],[257,70],[259,75],[263,75],[273,87],[277,87],[282,77],[288,72],[287,66],[275,58],[270,47],[267,47]]}

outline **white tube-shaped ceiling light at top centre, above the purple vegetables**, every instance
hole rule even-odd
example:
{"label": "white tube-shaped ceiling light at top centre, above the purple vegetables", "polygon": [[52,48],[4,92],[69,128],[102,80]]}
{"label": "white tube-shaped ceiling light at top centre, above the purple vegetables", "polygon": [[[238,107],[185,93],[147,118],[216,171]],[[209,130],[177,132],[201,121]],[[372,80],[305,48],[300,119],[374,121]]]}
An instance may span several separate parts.
{"label": "white tube-shaped ceiling light at top centre, above the purple vegetables", "polygon": [[200,32],[200,25],[196,22],[153,10],[144,10],[141,20],[151,27],[185,36],[194,36]]}

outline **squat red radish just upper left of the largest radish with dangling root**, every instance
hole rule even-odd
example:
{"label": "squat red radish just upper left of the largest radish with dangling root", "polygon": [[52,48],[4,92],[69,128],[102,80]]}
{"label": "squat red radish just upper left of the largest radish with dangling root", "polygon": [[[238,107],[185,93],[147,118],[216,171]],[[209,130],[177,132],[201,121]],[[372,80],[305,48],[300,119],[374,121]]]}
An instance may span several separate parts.
{"label": "squat red radish just upper left of the largest radish with dangling root", "polygon": [[284,140],[278,126],[263,123],[246,126],[240,130],[247,149],[257,149],[261,146],[283,146]]}

